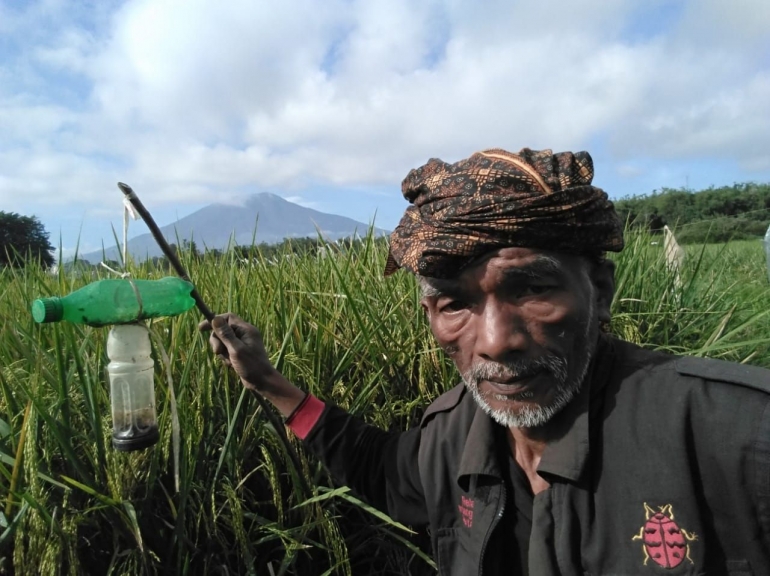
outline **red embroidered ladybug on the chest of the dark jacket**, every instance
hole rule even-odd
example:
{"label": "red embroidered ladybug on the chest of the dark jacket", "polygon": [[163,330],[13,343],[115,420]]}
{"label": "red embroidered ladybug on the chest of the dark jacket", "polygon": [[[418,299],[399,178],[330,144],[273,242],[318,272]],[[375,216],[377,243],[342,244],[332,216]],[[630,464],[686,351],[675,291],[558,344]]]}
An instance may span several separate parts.
{"label": "red embroidered ladybug on the chest of the dark jacket", "polygon": [[644,565],[652,560],[663,568],[676,568],[685,558],[693,564],[690,558],[690,542],[698,539],[692,532],[687,532],[674,522],[674,511],[671,504],[658,506],[658,512],[644,503],[647,522],[639,529],[632,540],[643,542]]}

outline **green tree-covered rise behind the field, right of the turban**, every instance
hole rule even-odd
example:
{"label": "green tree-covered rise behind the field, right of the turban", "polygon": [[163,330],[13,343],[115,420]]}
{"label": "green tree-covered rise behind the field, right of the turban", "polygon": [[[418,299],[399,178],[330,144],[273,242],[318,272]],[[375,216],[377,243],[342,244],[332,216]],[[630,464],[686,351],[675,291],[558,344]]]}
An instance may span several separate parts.
{"label": "green tree-covered rise behind the field, right of the turban", "polygon": [[668,225],[682,244],[757,238],[770,225],[770,184],[747,182],[700,191],[663,188],[614,204],[632,227],[658,233]]}

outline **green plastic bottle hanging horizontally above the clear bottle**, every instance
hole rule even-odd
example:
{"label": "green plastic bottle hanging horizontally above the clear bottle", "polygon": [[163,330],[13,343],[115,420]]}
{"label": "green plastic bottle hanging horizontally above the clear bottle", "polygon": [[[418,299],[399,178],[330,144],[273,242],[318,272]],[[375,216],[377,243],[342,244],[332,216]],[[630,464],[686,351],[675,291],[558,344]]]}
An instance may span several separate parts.
{"label": "green plastic bottle hanging horizontally above the clear bottle", "polygon": [[190,282],[173,276],[160,280],[99,280],[67,296],[35,300],[32,317],[36,322],[67,320],[76,324],[106,326],[176,316],[195,305],[190,295],[192,289]]}

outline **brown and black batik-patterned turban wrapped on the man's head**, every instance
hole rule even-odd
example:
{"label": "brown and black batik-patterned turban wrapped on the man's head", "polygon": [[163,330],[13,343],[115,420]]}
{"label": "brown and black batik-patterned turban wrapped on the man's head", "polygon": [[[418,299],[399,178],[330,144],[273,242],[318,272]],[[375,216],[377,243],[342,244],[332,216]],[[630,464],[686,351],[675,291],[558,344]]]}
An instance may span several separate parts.
{"label": "brown and black batik-patterned turban wrapped on the man's head", "polygon": [[412,204],[390,236],[385,276],[399,268],[452,278],[507,246],[573,254],[623,249],[623,226],[591,186],[588,152],[492,149],[447,164],[436,158],[401,185]]}

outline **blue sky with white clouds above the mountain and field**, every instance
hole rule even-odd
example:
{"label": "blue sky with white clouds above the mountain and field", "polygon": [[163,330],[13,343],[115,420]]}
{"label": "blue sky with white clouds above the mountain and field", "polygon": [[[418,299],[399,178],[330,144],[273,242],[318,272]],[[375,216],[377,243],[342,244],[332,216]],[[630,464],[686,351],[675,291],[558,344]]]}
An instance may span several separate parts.
{"label": "blue sky with white clouds above the mountain and field", "polygon": [[272,192],[392,229],[411,168],[523,147],[614,199],[770,182],[770,2],[0,0],[0,210],[65,257],[119,181],[161,226]]}

